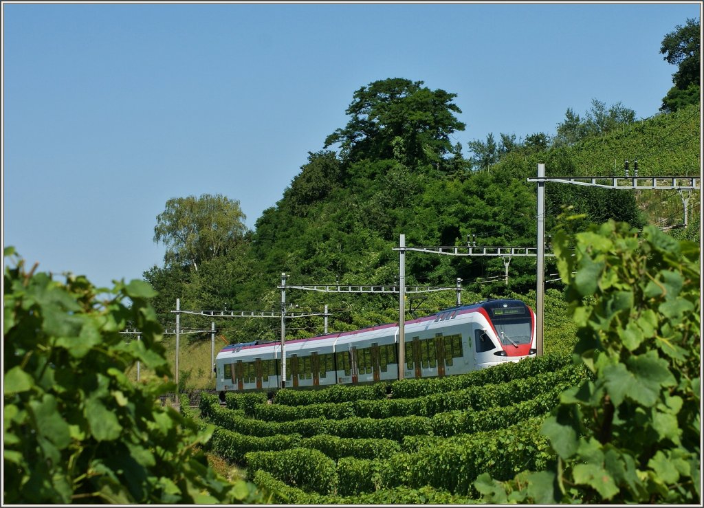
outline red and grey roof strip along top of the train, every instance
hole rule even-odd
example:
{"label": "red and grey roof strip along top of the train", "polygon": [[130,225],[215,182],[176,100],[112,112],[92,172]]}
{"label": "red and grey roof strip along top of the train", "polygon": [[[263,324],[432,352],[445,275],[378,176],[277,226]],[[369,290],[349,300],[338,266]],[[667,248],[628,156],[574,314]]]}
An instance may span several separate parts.
{"label": "red and grey roof strip along top of the train", "polygon": [[[491,300],[482,300],[481,302],[473,303],[471,305],[458,305],[456,307],[449,307],[444,310],[440,310],[439,312],[435,312],[434,314],[423,316],[423,317],[418,317],[416,319],[410,319],[406,321],[406,325],[409,324],[416,324],[416,323],[422,323],[422,322],[432,322],[441,317],[442,315],[446,315],[448,312],[456,312],[455,315],[460,315],[460,314],[465,314],[467,312],[477,312],[479,308],[484,308],[484,309],[494,309],[496,307],[501,307],[502,305],[525,305],[524,302],[521,300],[515,300],[515,299],[505,299],[505,298],[496,298],[496,299],[491,299]],[[386,324],[377,324],[375,326],[369,326],[367,328],[363,329],[358,329],[358,330],[351,330],[351,331],[337,331],[333,332],[330,334],[326,335],[320,335],[320,336],[314,336],[314,337],[308,337],[308,338],[296,338],[293,341],[286,341],[286,345],[294,345],[294,344],[303,344],[307,343],[309,341],[325,341],[325,339],[338,339],[338,338],[344,338],[346,336],[352,336],[352,335],[358,335],[358,334],[368,334],[373,331],[382,331],[385,329],[390,329],[390,328],[396,328],[398,326],[397,322],[393,323],[386,323]],[[246,343],[237,343],[237,344],[230,344],[226,345],[225,348],[222,348],[220,350],[220,353],[237,353],[238,351],[241,350],[256,350],[258,348],[266,348],[269,346],[277,346],[280,345],[280,341],[253,341],[253,342],[246,342]],[[324,345],[321,343],[321,345]],[[254,351],[253,351],[254,352]],[[218,355],[220,355],[218,353]]]}

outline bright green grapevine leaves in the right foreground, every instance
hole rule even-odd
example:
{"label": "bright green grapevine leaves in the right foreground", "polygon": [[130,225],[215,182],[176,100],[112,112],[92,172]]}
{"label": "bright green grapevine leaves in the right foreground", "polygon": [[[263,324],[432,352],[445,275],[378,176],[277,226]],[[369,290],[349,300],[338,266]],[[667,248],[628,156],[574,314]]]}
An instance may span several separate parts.
{"label": "bright green grapevine leaves in the right foreground", "polygon": [[486,502],[700,503],[698,246],[615,222],[553,246],[579,327],[573,359],[593,377],[543,424],[553,467],[475,487]]}

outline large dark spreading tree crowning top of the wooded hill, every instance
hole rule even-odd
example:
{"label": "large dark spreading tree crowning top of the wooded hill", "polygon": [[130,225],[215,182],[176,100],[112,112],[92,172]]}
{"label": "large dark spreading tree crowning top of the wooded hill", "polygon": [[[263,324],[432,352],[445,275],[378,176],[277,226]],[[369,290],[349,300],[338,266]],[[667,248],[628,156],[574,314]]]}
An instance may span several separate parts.
{"label": "large dark spreading tree crowning top of the wooded hill", "polygon": [[465,129],[453,115],[462,113],[452,102],[457,94],[422,84],[389,78],[361,87],[346,110],[351,120],[327,136],[324,148],[339,143],[347,163],[391,159],[393,141],[400,137],[409,167],[437,162],[451,153],[450,134]]}

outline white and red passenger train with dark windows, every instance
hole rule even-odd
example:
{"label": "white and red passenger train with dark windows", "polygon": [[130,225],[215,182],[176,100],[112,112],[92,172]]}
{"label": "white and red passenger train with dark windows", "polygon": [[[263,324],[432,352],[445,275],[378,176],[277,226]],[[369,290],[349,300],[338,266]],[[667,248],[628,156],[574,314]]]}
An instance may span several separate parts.
{"label": "white and red passenger train with dark windows", "polygon": [[[398,379],[398,323],[286,341],[286,388],[324,388]],[[521,300],[484,300],[404,324],[404,377],[464,374],[537,354],[535,312]],[[225,346],[215,391],[268,390],[281,383],[281,343]]]}

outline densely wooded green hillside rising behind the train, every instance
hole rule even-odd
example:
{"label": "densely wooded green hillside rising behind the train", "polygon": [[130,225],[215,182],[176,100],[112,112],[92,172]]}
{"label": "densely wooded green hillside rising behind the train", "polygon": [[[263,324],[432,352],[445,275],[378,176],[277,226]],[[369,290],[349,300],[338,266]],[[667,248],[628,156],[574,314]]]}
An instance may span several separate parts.
{"label": "densely wooded green hillside rising behind the train", "polygon": [[[636,121],[632,110],[620,103],[607,107],[595,100],[582,117],[568,109],[565,119],[556,122],[555,135],[516,139],[501,133],[498,144],[488,136],[486,141],[472,141],[465,156],[459,144],[449,141],[450,134],[464,129],[455,118],[459,109],[454,97],[398,78],[361,87],[346,110],[348,124],[327,137],[324,150],[309,153],[308,163],[276,205],[256,220],[253,231],[238,231],[217,253],[193,247],[192,260],[185,250],[168,250],[163,267],[145,272],[145,279],[159,292],[153,304],[165,326],[174,325],[170,311],[176,298],[182,309],[278,310],[282,272],[291,285],[394,284],[398,253],[392,249],[400,234],[406,235],[407,246],[455,246],[467,241],[477,246],[534,246],[536,184],[527,178],[536,176],[538,163],[546,164],[548,176],[624,174],[624,160],[629,160],[631,174],[638,160],[641,176],[698,174],[698,105]],[[213,196],[199,199],[217,201]],[[690,208],[698,209],[698,199],[693,193]],[[548,184],[546,201],[548,235],[567,205],[574,214],[584,214],[573,222],[575,231],[608,219],[634,227],[683,222],[677,191]],[[229,205],[237,215],[239,203],[230,200]],[[673,234],[698,239],[696,217],[698,213],[688,231]],[[164,236],[160,239],[166,243]],[[513,258],[506,285],[501,258],[410,253],[406,277],[407,284],[429,286],[454,286],[460,277],[463,302],[471,302],[526,295],[535,287],[535,266],[533,258]],[[548,258],[546,273],[556,272]],[[548,282],[547,287],[560,285]],[[393,322],[398,316],[393,295],[289,291],[287,301],[316,312],[329,305],[332,330]],[[408,308],[434,312],[454,302],[455,294],[446,291],[410,300]],[[209,320],[183,318],[181,326],[210,328]],[[275,319],[240,319],[217,326],[224,338],[219,345],[279,336]],[[321,318],[289,326],[291,338],[322,333]]]}

